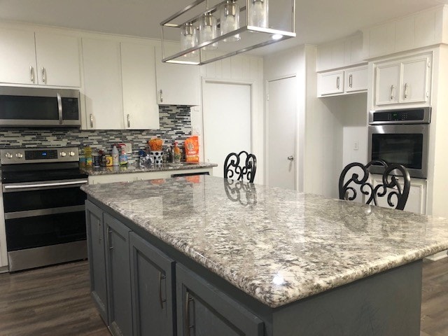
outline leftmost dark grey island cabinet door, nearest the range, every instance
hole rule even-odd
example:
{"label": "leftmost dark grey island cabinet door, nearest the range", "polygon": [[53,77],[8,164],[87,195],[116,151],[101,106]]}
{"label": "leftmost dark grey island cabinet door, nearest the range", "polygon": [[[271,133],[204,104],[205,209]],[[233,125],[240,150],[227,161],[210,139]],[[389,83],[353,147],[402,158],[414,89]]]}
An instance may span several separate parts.
{"label": "leftmost dark grey island cabinet door, nearest the range", "polygon": [[106,260],[104,258],[103,212],[89,201],[85,202],[87,251],[90,267],[90,292],[99,314],[109,324],[107,314]]}

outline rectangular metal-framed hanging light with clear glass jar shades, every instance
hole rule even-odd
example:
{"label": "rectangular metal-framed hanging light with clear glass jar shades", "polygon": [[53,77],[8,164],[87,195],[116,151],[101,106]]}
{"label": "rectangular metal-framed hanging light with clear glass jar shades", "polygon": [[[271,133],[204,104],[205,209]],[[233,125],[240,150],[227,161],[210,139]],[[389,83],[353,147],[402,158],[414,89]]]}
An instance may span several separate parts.
{"label": "rectangular metal-framed hanging light with clear glass jar shades", "polygon": [[[207,64],[295,37],[295,0],[272,8],[268,1],[193,1],[160,23],[162,62]],[[174,29],[180,33],[171,34]],[[181,51],[165,55],[164,44],[179,36]]]}

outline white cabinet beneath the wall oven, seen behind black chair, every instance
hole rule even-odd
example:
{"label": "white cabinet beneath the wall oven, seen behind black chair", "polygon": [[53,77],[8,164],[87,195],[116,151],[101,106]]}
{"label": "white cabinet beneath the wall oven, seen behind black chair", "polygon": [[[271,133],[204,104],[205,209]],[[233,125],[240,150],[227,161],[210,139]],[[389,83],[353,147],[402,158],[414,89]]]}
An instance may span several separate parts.
{"label": "white cabinet beneath the wall oven, seen behind black chair", "polygon": [[[382,176],[377,174],[372,174],[373,186],[382,184]],[[399,178],[400,183],[402,179]],[[426,188],[427,181],[424,179],[411,179],[411,188],[409,190],[409,197],[407,197],[407,202],[405,205],[405,211],[414,212],[416,214],[426,214]],[[392,197],[392,202],[395,202],[395,198]],[[387,197],[378,198],[379,207],[387,206]]]}

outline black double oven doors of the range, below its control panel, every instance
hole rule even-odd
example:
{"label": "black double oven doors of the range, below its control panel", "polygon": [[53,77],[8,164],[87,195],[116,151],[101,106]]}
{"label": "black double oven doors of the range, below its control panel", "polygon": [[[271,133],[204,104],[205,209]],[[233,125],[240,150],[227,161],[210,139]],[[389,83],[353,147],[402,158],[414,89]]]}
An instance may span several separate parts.
{"label": "black double oven doors of the range, below its control panel", "polygon": [[80,241],[85,232],[87,179],[3,183],[9,251]]}

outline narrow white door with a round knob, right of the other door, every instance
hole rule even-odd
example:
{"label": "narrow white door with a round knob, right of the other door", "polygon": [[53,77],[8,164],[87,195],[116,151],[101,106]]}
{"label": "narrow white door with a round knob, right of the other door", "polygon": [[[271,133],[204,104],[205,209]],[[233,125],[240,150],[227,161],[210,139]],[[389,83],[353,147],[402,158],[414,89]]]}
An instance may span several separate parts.
{"label": "narrow white door with a round knob, right of the other door", "polygon": [[297,79],[267,82],[267,185],[295,189]]}

